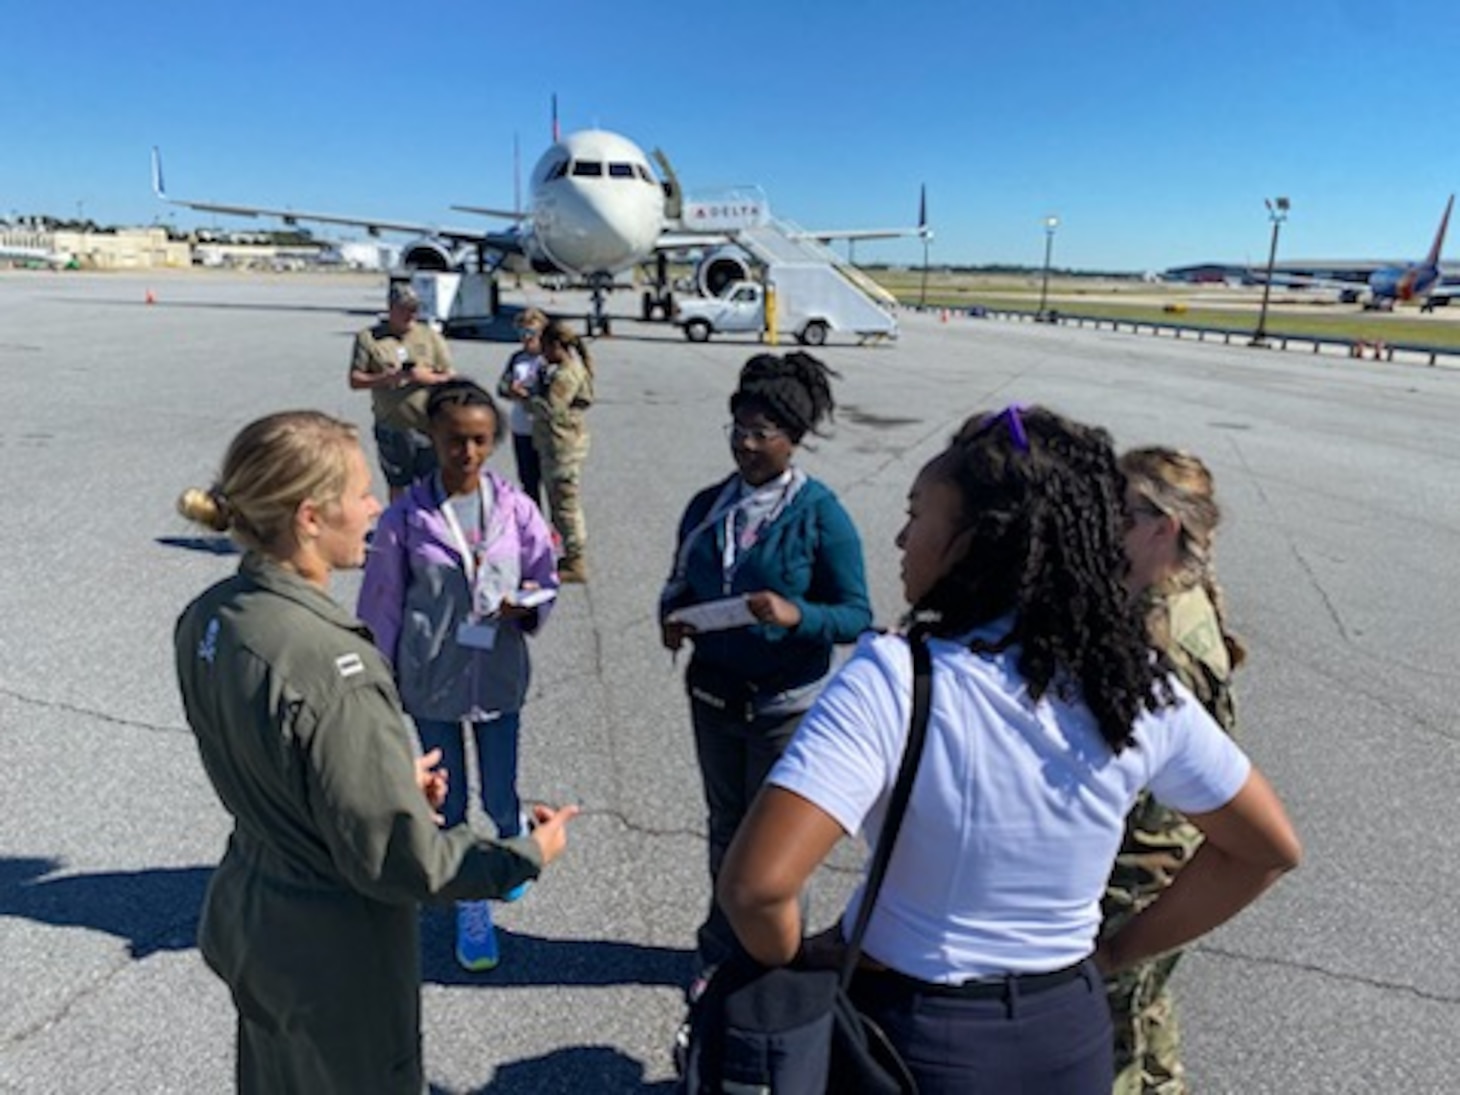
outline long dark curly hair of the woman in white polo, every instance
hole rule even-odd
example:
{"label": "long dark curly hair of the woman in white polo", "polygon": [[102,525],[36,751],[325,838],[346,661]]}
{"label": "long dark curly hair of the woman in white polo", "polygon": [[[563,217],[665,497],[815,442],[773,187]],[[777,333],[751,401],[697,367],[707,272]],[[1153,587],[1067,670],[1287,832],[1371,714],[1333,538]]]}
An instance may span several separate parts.
{"label": "long dark curly hair of the woman in white polo", "polygon": [[912,606],[931,635],[1013,616],[974,650],[1019,648],[1035,699],[1082,699],[1117,752],[1143,710],[1172,702],[1124,585],[1126,479],[1110,434],[1044,407],[969,418],[923,476],[962,499],[968,548]]}

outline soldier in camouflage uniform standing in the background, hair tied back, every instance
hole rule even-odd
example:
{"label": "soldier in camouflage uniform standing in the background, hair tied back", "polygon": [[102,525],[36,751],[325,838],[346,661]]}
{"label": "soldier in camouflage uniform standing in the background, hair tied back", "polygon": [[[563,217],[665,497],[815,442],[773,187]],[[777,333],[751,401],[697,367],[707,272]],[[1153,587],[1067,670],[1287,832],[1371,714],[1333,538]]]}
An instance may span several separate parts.
{"label": "soldier in camouflage uniform standing in the background, hair tied back", "polygon": [[533,444],[548,485],[548,508],[562,537],[558,578],[588,580],[585,548],[588,530],[583,520],[583,461],[588,456],[588,423],[584,412],[593,406],[593,358],[583,339],[562,320],[553,320],[542,334],[543,369],[537,393],[529,403]]}

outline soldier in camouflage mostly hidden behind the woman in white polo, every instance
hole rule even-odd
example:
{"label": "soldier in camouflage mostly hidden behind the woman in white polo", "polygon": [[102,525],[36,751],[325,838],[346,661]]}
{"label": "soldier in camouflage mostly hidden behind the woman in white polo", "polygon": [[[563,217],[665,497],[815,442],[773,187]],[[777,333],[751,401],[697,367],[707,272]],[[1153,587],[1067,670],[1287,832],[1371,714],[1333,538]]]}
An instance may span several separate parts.
{"label": "soldier in camouflage mostly hidden behind the woman in white polo", "polygon": [[[1221,511],[1212,474],[1190,456],[1140,448],[1121,457],[1129,479],[1130,584],[1148,602],[1152,645],[1177,677],[1228,731],[1237,729],[1232,669],[1244,650],[1226,632],[1222,597],[1212,571],[1212,534]],[[1161,894],[1196,853],[1202,834],[1184,816],[1155,802],[1136,800],[1102,902],[1102,934],[1110,934]],[[1180,1028],[1171,997],[1175,950],[1111,977],[1107,983],[1115,1029],[1115,1095],[1183,1095]]]}

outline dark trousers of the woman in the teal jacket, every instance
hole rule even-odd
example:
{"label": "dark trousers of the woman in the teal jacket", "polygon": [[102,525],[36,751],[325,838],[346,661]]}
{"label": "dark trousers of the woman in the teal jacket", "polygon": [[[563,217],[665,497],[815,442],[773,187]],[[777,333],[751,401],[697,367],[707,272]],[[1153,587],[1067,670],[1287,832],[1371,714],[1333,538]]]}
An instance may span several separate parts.
{"label": "dark trousers of the woman in the teal jacket", "polygon": [[[724,863],[736,829],[750,810],[756,791],[771,768],[785,752],[804,711],[759,715],[745,723],[723,712],[689,701],[689,717],[695,727],[695,755],[699,778],[705,787],[710,809],[710,911],[696,933],[699,964],[723,962],[734,949],[734,931],[715,901],[715,880]],[[806,895],[802,895],[802,921],[806,920]]]}

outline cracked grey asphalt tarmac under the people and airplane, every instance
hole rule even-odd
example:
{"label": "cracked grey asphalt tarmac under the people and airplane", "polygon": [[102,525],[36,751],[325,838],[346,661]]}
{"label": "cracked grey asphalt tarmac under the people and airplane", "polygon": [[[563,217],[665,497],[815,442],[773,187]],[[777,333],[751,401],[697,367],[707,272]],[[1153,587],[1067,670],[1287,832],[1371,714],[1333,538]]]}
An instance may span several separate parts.
{"label": "cracked grey asphalt tarmac under the people and airplane", "polygon": [[[228,821],[181,715],[171,629],[237,559],[172,505],[258,415],[366,425],[345,366],[383,296],[361,277],[0,274],[0,1091],[229,1089],[234,1015],[194,946]],[[583,311],[572,295],[533,302]],[[453,343],[485,381],[508,349]],[[438,1091],[672,1088],[707,882],[656,596],[682,507],[731,470],[726,399],[756,349],[632,320],[594,343],[593,581],[564,591],[534,642],[521,762],[527,796],[584,816],[561,863],[501,908],[495,972],[460,972],[447,917],[426,915]],[[898,343],[823,356],[842,374],[837,428],[802,463],[857,521],[882,623],[899,609],[905,492],[972,410],[1048,403],[1121,445],[1212,464],[1219,566],[1251,650],[1241,739],[1307,861],[1184,959],[1193,1088],[1451,1089],[1460,374],[911,312]],[[336,585],[346,603],[355,590]],[[857,861],[847,845],[818,876],[818,927]]]}

